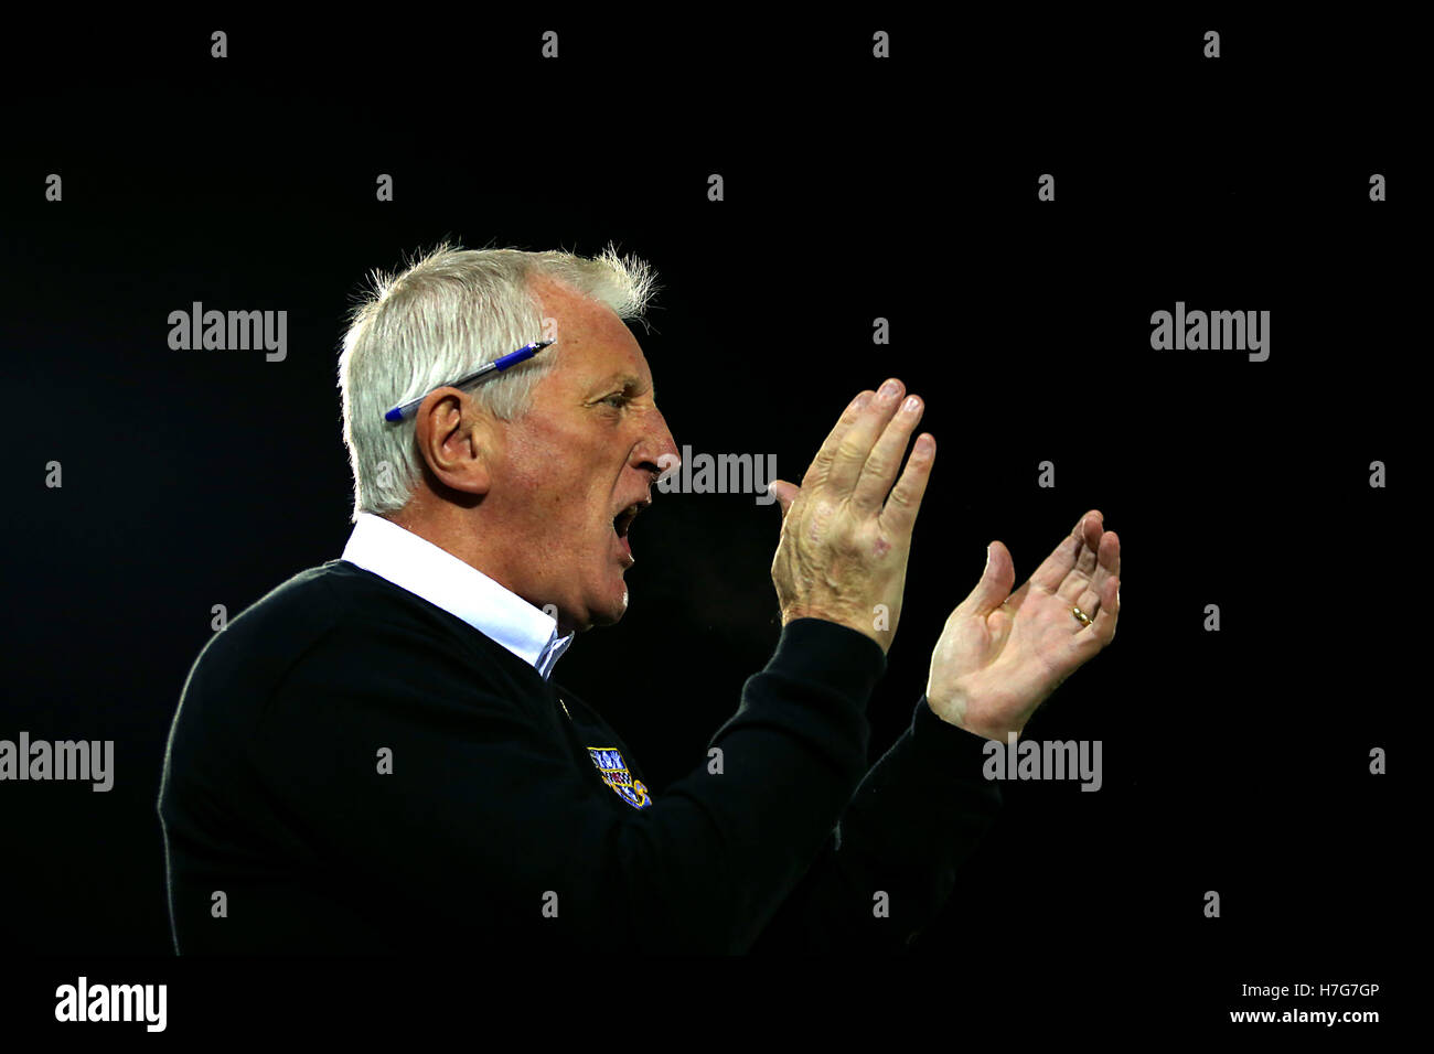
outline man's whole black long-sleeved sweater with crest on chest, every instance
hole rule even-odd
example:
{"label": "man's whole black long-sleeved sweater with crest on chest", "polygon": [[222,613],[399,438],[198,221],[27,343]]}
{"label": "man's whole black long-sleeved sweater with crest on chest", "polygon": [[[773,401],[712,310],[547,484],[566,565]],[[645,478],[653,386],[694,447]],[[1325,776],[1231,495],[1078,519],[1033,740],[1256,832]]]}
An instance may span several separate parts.
{"label": "man's whole black long-sleeved sweater with crest on chest", "polygon": [[1001,796],[985,740],[925,698],[868,771],[885,667],[863,634],[792,622],[720,766],[654,796],[591,707],[485,634],[311,568],[185,683],[159,792],[175,949],[901,949]]}

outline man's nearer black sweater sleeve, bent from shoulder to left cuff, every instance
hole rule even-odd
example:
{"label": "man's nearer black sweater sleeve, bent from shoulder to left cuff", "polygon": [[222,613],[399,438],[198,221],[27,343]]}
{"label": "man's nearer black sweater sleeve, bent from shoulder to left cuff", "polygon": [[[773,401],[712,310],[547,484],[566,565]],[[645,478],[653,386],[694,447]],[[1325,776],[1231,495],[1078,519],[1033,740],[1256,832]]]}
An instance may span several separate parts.
{"label": "man's nearer black sweater sleeve, bent from shoulder to left cuff", "polygon": [[749,951],[862,779],[886,664],[853,630],[789,624],[713,740],[721,764],[630,812],[574,763],[541,688],[509,698],[412,630],[343,627],[238,747],[251,777],[336,882],[437,906],[455,936],[499,928],[533,948]]}

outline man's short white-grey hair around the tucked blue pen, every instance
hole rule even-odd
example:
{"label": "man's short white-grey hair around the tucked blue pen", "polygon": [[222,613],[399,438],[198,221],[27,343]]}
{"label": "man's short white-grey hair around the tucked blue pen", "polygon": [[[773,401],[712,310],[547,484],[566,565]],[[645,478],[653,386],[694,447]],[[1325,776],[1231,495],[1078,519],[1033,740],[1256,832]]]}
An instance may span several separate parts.
{"label": "man's short white-grey hair around the tucked blue pen", "polygon": [[[538,275],[644,326],[658,288],[648,264],[619,258],[611,244],[585,258],[443,242],[402,272],[371,272],[371,291],[350,313],[338,357],[344,443],[354,473],[351,522],[360,512],[397,512],[422,479],[414,422],[390,424],[383,419],[387,410],[543,338],[542,304],[531,285]],[[467,391],[499,420],[515,420],[528,413],[533,389],[555,359],[539,354]]]}

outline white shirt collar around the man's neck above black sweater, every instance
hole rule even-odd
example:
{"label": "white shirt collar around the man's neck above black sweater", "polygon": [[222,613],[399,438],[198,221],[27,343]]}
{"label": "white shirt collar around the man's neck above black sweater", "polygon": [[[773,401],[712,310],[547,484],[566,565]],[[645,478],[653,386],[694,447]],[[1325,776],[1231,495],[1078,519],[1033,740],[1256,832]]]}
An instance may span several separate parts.
{"label": "white shirt collar around the man's neck above black sweater", "polygon": [[412,531],[360,512],[341,559],[457,615],[532,665],[543,680],[576,631],[558,635],[558,619]]}

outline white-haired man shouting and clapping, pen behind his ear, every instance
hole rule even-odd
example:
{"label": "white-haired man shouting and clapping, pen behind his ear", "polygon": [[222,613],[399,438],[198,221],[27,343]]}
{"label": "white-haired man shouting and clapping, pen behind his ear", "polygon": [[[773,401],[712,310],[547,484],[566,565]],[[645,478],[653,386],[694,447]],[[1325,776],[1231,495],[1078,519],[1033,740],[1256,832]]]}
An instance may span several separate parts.
{"label": "white-haired man shouting and clapping, pen behind his ear", "polygon": [[1088,512],[1017,592],[992,542],[909,730],[868,770],[935,440],[902,469],[921,400],[860,393],[800,488],[773,483],[771,661],[708,760],[654,794],[551,678],[627,609],[627,528],[677,459],[624,324],[651,290],[612,251],[445,245],[356,310],[343,558],[217,634],[175,714],[176,951],[902,949],[941,908],[999,806],[982,744],[1114,634],[1119,539]]}

